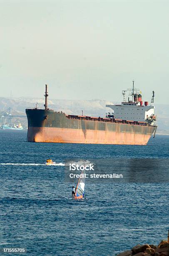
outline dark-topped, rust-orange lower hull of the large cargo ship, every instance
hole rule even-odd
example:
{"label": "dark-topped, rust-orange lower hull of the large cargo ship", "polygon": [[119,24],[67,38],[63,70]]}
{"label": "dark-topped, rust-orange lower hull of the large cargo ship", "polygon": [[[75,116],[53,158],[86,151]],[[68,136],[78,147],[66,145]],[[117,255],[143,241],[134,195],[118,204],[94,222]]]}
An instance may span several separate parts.
{"label": "dark-topped, rust-orange lower hull of the large cargo ship", "polygon": [[70,116],[53,110],[26,109],[27,141],[146,145],[155,126],[145,123]]}

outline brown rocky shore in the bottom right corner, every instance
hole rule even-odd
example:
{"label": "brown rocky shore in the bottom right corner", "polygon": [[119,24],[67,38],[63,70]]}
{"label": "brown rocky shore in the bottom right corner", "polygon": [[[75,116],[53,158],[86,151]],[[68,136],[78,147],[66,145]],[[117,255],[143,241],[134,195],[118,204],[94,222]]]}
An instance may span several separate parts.
{"label": "brown rocky shore in the bottom right corner", "polygon": [[119,253],[117,256],[169,256],[169,243],[161,241],[158,246],[153,244],[138,244],[131,250]]}

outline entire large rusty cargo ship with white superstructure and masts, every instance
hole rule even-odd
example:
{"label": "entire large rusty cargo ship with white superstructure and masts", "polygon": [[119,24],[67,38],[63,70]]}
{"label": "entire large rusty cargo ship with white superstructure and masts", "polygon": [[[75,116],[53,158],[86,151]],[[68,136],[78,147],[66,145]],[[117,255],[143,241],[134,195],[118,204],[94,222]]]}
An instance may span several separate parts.
{"label": "entire large rusty cargo ship with white superstructure and masts", "polygon": [[[128,92],[128,98],[126,94]],[[143,104],[139,89],[122,91],[121,105],[106,105],[112,109],[105,118],[66,115],[47,106],[47,84],[44,109],[26,109],[28,142],[146,145],[156,133],[154,91],[152,100]]]}

